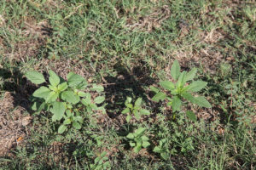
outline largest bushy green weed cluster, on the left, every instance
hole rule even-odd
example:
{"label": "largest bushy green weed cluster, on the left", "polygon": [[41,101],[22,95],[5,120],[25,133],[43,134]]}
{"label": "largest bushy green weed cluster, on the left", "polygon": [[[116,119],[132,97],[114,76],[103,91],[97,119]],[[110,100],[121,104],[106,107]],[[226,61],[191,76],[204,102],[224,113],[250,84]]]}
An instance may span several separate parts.
{"label": "largest bushy green weed cluster, on the left", "polygon": [[[38,71],[28,71],[26,72],[26,77],[35,84],[46,82],[44,75]],[[97,104],[102,104],[105,97],[98,96],[93,101],[90,93],[84,92],[87,87],[88,83],[84,77],[73,72],[68,73],[67,81],[65,81],[62,77],[56,75],[54,71],[49,71],[48,87],[41,86],[32,94],[32,110],[36,111],[36,113],[43,110],[50,111],[53,114],[53,122],[62,122],[58,128],[58,133],[64,133],[67,127],[71,125],[76,129],[80,129],[84,119],[82,113],[92,113],[94,110],[105,112],[103,106],[97,106]],[[95,90],[99,93],[104,88],[93,84],[90,90]]]}

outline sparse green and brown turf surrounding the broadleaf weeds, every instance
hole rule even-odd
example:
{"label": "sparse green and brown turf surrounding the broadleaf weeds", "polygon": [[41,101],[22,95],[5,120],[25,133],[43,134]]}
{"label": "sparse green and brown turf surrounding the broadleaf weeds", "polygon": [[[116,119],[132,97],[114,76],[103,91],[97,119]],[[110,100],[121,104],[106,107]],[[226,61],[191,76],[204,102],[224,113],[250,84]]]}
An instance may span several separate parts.
{"label": "sparse green and brown turf surrounding the broadleaf weeds", "polygon": [[[256,169],[255,30],[254,0],[0,1],[0,169]],[[149,86],[172,80],[175,59],[207,82],[212,108],[183,108],[197,122],[152,101]],[[107,114],[58,134],[31,110],[32,70],[101,84]],[[127,123],[126,97],[150,116]],[[151,145],[135,153],[126,135],[140,126]],[[167,159],[153,151],[160,140]],[[40,150],[49,146],[62,150]]]}

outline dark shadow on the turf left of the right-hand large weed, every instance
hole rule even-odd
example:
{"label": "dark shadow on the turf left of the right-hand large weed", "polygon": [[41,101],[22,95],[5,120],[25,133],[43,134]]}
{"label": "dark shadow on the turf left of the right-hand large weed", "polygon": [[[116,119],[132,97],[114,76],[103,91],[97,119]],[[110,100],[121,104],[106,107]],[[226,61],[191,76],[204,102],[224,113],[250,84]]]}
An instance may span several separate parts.
{"label": "dark shadow on the turf left of the right-hand large weed", "polygon": [[145,65],[140,61],[139,66],[129,70],[118,62],[113,66],[117,72],[116,77],[104,77],[107,82],[106,109],[110,118],[119,116],[125,107],[127,97],[131,97],[132,102],[141,97],[148,105],[152,105],[152,101],[148,99],[146,87],[153,84],[155,80],[149,77],[149,68]]}

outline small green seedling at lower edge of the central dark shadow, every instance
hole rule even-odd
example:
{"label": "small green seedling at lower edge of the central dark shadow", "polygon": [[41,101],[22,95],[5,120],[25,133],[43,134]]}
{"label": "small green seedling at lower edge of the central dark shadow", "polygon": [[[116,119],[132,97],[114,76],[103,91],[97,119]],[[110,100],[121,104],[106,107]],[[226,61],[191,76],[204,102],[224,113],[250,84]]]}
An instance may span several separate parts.
{"label": "small green seedling at lower edge of the central dark shadow", "polygon": [[132,114],[135,116],[137,120],[141,118],[143,115],[150,115],[150,112],[146,109],[142,108],[142,98],[138,98],[134,105],[131,104],[131,97],[127,97],[125,101],[125,110],[122,111],[123,114],[127,114],[126,116],[126,122],[130,122],[132,118]]}

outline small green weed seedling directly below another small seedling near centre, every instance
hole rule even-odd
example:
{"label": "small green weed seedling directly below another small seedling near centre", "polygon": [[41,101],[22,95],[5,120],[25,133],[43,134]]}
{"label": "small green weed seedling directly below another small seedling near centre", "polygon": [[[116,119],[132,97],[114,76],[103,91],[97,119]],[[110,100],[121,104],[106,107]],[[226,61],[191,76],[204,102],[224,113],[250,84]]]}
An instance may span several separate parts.
{"label": "small green weed seedling directly below another small seedling near centre", "polygon": [[148,137],[144,134],[146,131],[145,127],[138,127],[134,133],[129,133],[126,138],[130,139],[131,147],[135,153],[138,153],[142,148],[147,148],[150,143],[148,142]]}

